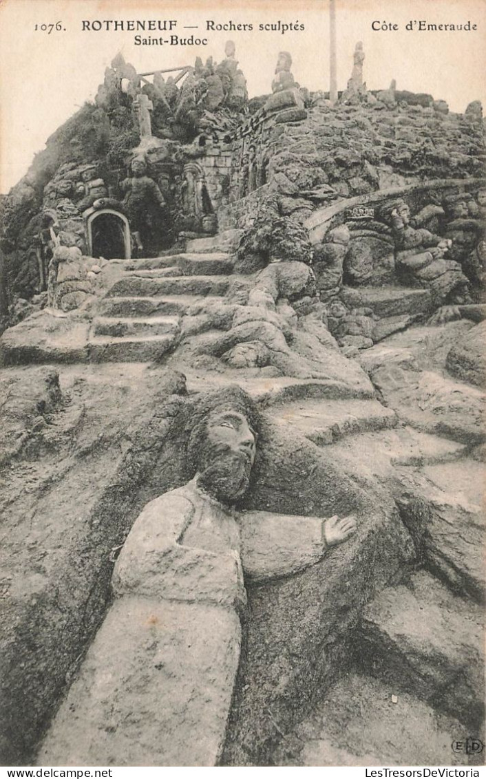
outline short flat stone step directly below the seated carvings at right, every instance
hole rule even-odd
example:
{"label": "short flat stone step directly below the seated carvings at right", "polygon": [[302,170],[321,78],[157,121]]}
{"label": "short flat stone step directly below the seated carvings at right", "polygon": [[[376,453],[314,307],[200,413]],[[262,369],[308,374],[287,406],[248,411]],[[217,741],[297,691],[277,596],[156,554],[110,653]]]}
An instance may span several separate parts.
{"label": "short flat stone step directly below the seated carvings at right", "polygon": [[431,308],[430,290],[408,287],[357,287],[353,288],[350,294],[353,298],[359,295],[359,306],[372,308],[373,313],[380,317],[421,314]]}

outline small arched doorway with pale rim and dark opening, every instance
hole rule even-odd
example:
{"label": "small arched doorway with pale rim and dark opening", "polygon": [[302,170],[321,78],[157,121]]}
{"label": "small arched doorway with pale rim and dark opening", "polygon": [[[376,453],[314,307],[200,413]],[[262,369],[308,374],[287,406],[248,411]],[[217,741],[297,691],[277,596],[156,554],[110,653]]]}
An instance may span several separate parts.
{"label": "small arched doorway with pale rim and dark opening", "polygon": [[130,259],[129,220],[111,208],[85,211],[86,243],[91,257]]}

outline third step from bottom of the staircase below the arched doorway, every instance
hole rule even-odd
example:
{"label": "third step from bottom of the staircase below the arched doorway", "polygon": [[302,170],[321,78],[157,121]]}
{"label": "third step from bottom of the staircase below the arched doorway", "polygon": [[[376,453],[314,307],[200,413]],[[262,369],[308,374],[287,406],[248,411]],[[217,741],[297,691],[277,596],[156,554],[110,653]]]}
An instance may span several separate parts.
{"label": "third step from bottom of the staircase below the arched doorway", "polygon": [[186,314],[199,305],[220,301],[217,295],[164,295],[153,298],[102,298],[97,311],[104,316],[164,316]]}

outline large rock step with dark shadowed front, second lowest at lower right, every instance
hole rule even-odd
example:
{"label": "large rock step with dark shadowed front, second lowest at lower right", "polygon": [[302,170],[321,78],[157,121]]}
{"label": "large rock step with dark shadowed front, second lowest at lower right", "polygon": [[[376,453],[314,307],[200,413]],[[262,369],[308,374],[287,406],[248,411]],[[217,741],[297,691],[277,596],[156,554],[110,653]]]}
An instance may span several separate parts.
{"label": "large rock step with dark shadowed front, second lowest at lower right", "polygon": [[361,669],[453,714],[469,728],[484,717],[481,607],[426,571],[387,587],[358,627]]}

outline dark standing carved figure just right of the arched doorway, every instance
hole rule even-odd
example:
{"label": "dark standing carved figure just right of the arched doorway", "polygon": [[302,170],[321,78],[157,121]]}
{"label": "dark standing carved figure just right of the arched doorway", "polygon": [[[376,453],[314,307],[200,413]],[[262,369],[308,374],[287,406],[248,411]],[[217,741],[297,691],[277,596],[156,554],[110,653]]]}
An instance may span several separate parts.
{"label": "dark standing carved figure just right of the arched doorway", "polygon": [[153,217],[157,218],[157,212],[161,215],[165,200],[156,182],[147,176],[147,165],[143,157],[135,157],[130,169],[133,175],[122,182],[122,192],[125,192],[123,204],[129,216],[136,248],[140,252],[143,250],[141,236],[150,235]]}

